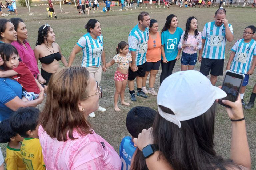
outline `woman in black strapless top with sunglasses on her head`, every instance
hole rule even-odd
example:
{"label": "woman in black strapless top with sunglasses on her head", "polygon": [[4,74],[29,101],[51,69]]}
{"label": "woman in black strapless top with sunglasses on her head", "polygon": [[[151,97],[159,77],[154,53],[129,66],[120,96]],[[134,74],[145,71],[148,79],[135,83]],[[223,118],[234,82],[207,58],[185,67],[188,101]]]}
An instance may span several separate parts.
{"label": "woman in black strapless top with sunglasses on her head", "polygon": [[55,43],[55,33],[50,25],[42,25],[38,30],[37,43],[34,49],[35,58],[42,64],[41,75],[47,85],[51,75],[59,70],[59,60],[67,66],[67,61],[61,53],[61,48]]}

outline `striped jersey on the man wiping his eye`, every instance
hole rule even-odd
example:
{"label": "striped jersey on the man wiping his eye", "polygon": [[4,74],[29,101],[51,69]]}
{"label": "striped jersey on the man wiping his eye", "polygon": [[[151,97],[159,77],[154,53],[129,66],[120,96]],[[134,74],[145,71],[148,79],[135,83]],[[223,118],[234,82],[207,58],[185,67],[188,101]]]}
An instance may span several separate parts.
{"label": "striped jersey on the man wiping his eye", "polygon": [[[231,24],[229,24],[229,29],[233,33]],[[225,58],[226,29],[224,24],[218,27],[215,25],[215,21],[206,23],[203,28],[202,39],[205,39],[205,46],[202,54],[203,58]]]}

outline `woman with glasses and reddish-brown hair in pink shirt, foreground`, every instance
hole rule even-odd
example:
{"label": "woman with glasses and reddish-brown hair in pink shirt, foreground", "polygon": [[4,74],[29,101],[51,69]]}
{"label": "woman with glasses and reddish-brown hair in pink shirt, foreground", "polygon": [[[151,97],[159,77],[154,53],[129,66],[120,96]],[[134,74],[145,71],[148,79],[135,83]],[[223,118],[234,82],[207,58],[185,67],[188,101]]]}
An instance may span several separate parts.
{"label": "woman with glasses and reddish-brown hair in pink shirt, foreground", "polygon": [[117,152],[88,121],[101,97],[101,87],[85,67],[52,75],[38,129],[46,169],[121,169]]}

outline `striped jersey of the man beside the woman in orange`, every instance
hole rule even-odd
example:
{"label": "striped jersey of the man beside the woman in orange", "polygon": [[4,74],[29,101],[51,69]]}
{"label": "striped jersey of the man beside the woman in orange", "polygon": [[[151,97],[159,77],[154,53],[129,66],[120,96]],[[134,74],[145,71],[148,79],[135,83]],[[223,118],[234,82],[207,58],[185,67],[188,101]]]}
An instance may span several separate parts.
{"label": "striped jersey of the man beside the woman in orange", "polygon": [[147,53],[147,41],[149,40],[149,28],[145,28],[145,31],[141,31],[136,25],[128,36],[128,44],[130,51],[136,51],[136,65],[144,64]]}

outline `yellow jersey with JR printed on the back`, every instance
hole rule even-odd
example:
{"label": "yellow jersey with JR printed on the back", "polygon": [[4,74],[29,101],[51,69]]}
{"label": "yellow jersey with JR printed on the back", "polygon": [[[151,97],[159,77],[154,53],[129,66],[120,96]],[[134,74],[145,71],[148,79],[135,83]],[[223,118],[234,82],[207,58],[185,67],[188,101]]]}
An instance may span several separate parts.
{"label": "yellow jersey with JR printed on the back", "polygon": [[37,138],[24,138],[21,145],[21,156],[27,170],[45,170],[42,147]]}

